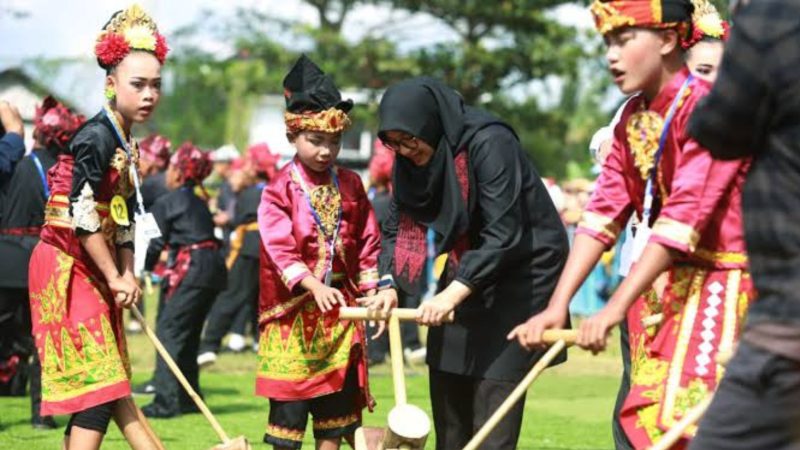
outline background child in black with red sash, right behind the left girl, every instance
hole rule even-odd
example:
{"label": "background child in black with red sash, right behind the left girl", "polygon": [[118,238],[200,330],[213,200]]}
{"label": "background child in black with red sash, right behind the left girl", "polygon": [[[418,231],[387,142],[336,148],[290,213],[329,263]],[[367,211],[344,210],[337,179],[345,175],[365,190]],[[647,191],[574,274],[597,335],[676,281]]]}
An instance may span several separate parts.
{"label": "background child in black with red sash, right behind the left girl", "polygon": [[[227,281],[220,242],[214,237],[208,197],[202,188],[210,173],[208,154],[189,142],[172,155],[166,177],[171,192],[156,200],[152,209],[161,237],[150,241],[145,260],[145,270],[152,270],[161,251],[169,246],[166,288],[156,334],[198,393],[201,392],[197,365],[200,333],[214,298]],[[197,411],[160,356],[153,384],[155,398],[142,408],[145,416],[169,418]]]}

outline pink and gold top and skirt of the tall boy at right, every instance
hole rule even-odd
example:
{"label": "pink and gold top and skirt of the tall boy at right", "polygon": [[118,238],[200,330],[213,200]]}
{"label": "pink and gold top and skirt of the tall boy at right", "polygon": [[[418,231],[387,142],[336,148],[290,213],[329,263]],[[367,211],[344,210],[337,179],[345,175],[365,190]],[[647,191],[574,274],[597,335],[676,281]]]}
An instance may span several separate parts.
{"label": "pink and gold top and skirt of the tall boy at right", "polygon": [[[636,213],[667,110],[689,76],[684,69],[647,105],[642,95],[625,107],[611,153],[577,230],[611,246]],[[628,312],[631,390],[621,412],[628,438],[648,447],[716,388],[719,351],[730,351],[754,299],[742,231],[740,194],[749,160],[718,161],[686,133],[706,82],[692,80],[670,124],[657,168],[652,235],[681,254],[663,290],[643,294]],[[650,327],[642,319],[657,313]],[[690,438],[696,427],[690,427]],[[678,447],[685,445],[684,439]]]}

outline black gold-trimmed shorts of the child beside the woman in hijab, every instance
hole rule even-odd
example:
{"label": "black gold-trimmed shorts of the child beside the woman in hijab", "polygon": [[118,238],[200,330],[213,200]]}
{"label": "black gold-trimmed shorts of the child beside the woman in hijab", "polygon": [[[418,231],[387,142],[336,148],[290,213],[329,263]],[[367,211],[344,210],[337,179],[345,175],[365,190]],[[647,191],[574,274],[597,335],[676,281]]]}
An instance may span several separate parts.
{"label": "black gold-trimmed shorts of the child beside the woman in hijab", "polygon": [[332,439],[353,434],[361,426],[361,392],[356,365],[347,370],[339,392],[308,400],[269,400],[269,423],[264,442],[278,447],[300,448],[311,413],[314,439]]}

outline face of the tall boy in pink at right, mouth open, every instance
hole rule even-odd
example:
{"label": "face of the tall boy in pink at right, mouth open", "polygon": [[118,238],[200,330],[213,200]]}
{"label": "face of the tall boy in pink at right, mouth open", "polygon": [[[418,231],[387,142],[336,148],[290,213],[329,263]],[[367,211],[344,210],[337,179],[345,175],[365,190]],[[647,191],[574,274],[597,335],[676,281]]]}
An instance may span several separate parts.
{"label": "face of the tall boy in pink at right, mouth open", "polygon": [[[674,36],[669,37],[669,34]],[[606,60],[614,83],[625,95],[658,93],[663,72],[663,56],[677,45],[674,31],[622,28],[604,36]],[[656,92],[651,92],[653,90]]]}

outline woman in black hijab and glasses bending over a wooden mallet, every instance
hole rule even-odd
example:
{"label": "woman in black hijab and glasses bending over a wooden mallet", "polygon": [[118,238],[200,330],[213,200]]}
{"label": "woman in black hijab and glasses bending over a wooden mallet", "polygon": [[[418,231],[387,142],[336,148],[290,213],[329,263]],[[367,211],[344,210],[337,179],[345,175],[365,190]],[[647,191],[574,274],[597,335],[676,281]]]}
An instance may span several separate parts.
{"label": "woman in black hijab and glasses bending over a wooden mallet", "polygon": [[[568,244],[564,227],[514,130],[466,107],[432,78],[391,86],[379,136],[400,156],[383,230],[379,295],[413,290],[427,229],[448,253],[438,294],[420,306],[428,331],[436,448],[462,448],[539,358],[506,335],[547,305]],[[563,360],[563,358],[562,358]],[[482,448],[513,449],[524,401]]]}

